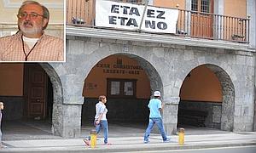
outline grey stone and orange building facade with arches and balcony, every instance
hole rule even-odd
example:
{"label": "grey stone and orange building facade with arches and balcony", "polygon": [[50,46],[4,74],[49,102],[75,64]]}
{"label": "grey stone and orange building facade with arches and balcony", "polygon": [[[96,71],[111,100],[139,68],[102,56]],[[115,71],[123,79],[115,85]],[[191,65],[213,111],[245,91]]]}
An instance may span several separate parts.
{"label": "grey stone and orange building facade with arches and balcony", "polygon": [[[20,81],[20,98],[0,97],[12,101],[6,104],[9,108],[21,110],[16,118],[50,114],[53,133],[73,138],[80,135],[83,122],[92,122],[99,95],[108,96],[110,123],[148,122],[148,99],[160,90],[167,134],[193,123],[224,131],[255,131],[255,1],[122,2],[178,9],[176,33],[97,27],[95,1],[67,1],[66,62],[34,64],[32,70],[29,64],[19,64],[25,79]],[[0,65],[3,72],[11,66]],[[26,102],[32,101],[33,90],[26,87],[33,86],[27,76],[34,71],[37,77],[35,67],[46,74],[39,79],[46,80],[48,94],[43,97],[51,101],[40,104],[44,107]],[[14,101],[21,101],[20,106]],[[24,104],[28,113],[20,109]],[[27,106],[31,104],[37,106],[31,109]],[[33,114],[36,108],[45,111]]]}

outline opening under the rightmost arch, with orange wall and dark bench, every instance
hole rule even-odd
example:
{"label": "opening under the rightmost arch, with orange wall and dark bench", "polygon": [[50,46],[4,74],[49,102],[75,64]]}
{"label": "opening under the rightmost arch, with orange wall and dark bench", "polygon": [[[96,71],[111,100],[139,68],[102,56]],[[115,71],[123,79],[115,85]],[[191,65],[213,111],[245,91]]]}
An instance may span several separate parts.
{"label": "opening under the rightmost arch, with orange wall and dark bench", "polygon": [[233,131],[235,88],[217,65],[200,65],[189,72],[180,90],[178,125]]}

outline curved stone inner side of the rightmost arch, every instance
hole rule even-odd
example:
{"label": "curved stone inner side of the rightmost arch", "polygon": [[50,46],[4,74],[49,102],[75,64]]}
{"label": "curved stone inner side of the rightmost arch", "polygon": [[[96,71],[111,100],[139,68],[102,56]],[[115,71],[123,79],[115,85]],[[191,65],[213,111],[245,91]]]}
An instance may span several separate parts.
{"label": "curved stone inner side of the rightmost arch", "polygon": [[[232,76],[224,70],[224,68],[228,69],[228,67],[220,67],[214,64],[201,64],[207,66],[215,75],[218,77],[218,81],[220,82],[222,88],[222,111],[221,111],[221,126],[220,129],[224,131],[233,131],[234,128],[234,111],[235,111],[235,87],[232,82]],[[198,66],[196,65],[190,69],[192,71]],[[228,69],[229,70],[229,69]],[[186,74],[183,75],[184,78],[189,74],[187,71]],[[233,78],[234,79],[234,78]],[[180,85],[181,89],[182,84]]]}

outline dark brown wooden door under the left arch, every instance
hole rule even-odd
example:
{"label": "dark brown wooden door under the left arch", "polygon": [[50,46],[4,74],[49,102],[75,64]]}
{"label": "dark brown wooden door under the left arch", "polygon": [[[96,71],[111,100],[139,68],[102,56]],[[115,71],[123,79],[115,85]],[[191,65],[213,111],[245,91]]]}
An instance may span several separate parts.
{"label": "dark brown wooden door under the left arch", "polygon": [[38,64],[25,64],[26,116],[44,119],[46,116],[48,77]]}

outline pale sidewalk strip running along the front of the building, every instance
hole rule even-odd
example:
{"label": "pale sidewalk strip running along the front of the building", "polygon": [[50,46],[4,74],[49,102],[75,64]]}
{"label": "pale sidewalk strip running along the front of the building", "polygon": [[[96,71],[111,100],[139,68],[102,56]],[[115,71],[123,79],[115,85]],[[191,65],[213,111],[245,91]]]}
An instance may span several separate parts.
{"label": "pale sidewalk strip running along the front of the building", "polygon": [[160,135],[150,137],[148,144],[143,144],[143,136],[109,138],[112,145],[104,145],[100,136],[96,148],[86,146],[83,139],[27,139],[5,140],[0,152],[127,152],[141,150],[181,150],[212,147],[256,145],[256,132],[213,133],[185,135],[185,144],[178,145],[177,135],[171,136],[170,143],[163,143]]}

